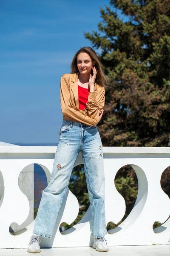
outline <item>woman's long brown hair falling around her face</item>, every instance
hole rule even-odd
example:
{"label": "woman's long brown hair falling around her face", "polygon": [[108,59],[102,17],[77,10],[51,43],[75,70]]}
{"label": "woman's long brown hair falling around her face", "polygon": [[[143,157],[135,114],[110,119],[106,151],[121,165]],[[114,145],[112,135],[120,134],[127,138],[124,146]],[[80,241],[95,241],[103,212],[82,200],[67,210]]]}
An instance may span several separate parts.
{"label": "woman's long brown hair falling around her face", "polygon": [[[74,58],[73,58],[73,60],[71,62],[71,74],[79,72],[78,67],[77,67],[77,56],[79,55],[79,53],[82,53],[82,52],[87,53],[90,56],[92,62],[93,61],[96,62],[95,65],[94,65],[94,67],[96,68],[96,71],[97,71],[95,82],[97,84],[99,84],[100,86],[104,86],[105,87],[106,76],[102,72],[101,63],[99,61],[99,58],[96,55],[96,52],[91,47],[82,47],[82,48],[79,49],[78,52],[76,52],[76,54],[74,55]],[[93,75],[93,70],[91,70],[91,73]]]}

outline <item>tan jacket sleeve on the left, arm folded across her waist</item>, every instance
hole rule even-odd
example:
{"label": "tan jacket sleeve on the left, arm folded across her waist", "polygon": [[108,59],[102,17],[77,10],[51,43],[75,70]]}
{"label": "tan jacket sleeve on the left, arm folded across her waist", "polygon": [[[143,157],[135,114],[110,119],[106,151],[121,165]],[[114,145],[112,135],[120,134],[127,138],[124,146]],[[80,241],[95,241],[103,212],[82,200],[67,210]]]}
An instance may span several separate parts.
{"label": "tan jacket sleeve on the left, arm folded across her waist", "polygon": [[95,118],[92,119],[80,113],[70,104],[70,84],[64,76],[61,77],[60,81],[60,103],[62,114],[78,122],[85,123],[86,125],[96,125],[100,121],[99,115],[96,115]]}

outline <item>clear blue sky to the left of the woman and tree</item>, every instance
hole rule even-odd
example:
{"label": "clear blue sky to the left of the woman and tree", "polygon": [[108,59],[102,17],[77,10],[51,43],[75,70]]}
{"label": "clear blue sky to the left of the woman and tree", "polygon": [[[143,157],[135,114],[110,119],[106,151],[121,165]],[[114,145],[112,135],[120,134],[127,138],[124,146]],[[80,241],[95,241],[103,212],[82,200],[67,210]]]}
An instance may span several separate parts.
{"label": "clear blue sky to the left of the woman and tree", "polygon": [[[109,0],[0,1],[0,141],[57,143],[60,77]],[[99,52],[96,50],[96,52]]]}

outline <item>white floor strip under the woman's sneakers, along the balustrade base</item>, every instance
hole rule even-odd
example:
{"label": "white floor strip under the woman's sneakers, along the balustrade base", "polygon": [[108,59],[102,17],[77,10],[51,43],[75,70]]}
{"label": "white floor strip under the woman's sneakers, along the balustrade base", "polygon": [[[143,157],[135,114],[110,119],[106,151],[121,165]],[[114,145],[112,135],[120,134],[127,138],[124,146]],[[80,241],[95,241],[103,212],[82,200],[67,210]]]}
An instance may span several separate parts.
{"label": "white floor strip under the woman's sneakers, along the balustrade base", "polygon": [[[0,250],[1,256],[30,256],[26,249]],[[105,253],[92,247],[43,248],[37,256],[170,256],[170,245],[110,246]]]}

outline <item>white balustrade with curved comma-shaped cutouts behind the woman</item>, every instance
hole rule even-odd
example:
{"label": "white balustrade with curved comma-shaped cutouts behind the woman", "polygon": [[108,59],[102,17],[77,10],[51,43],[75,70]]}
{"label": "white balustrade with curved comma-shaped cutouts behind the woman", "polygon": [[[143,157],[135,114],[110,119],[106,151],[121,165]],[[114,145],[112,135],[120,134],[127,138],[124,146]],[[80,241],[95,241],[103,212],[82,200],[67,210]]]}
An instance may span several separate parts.
{"label": "white balustrade with curved comma-shaped cutouts behind the woman", "polygon": [[[39,164],[49,180],[56,147],[13,147],[0,146],[0,248],[25,248],[30,240],[34,221],[26,227],[26,220],[33,216],[33,197],[28,198],[34,186],[33,179],[27,183],[28,173],[20,172]],[[105,168],[105,210],[106,223],[117,224],[125,215],[125,200],[114,185],[115,175],[125,165],[130,165],[138,178],[136,203],[118,227],[109,230],[108,245],[168,244],[170,239],[170,199],[161,189],[161,175],[170,166],[168,147],[103,147]],[[82,164],[81,153],[75,166]],[[31,170],[31,169],[29,169]],[[32,171],[30,171],[32,173]],[[32,175],[32,174],[31,174]],[[27,177],[27,178],[26,178]],[[32,187],[27,187],[32,184]],[[30,186],[30,185],[29,185]],[[88,209],[81,221],[74,227],[59,232],[62,222],[71,224],[78,215],[77,198],[68,189],[62,209],[59,212],[52,239],[41,238],[41,247],[81,247],[91,246],[91,212]],[[33,218],[33,217],[31,217]],[[168,219],[168,220],[167,220]],[[167,221],[166,221],[167,220]],[[164,223],[153,230],[154,222]],[[9,232],[16,223],[14,235]]]}

